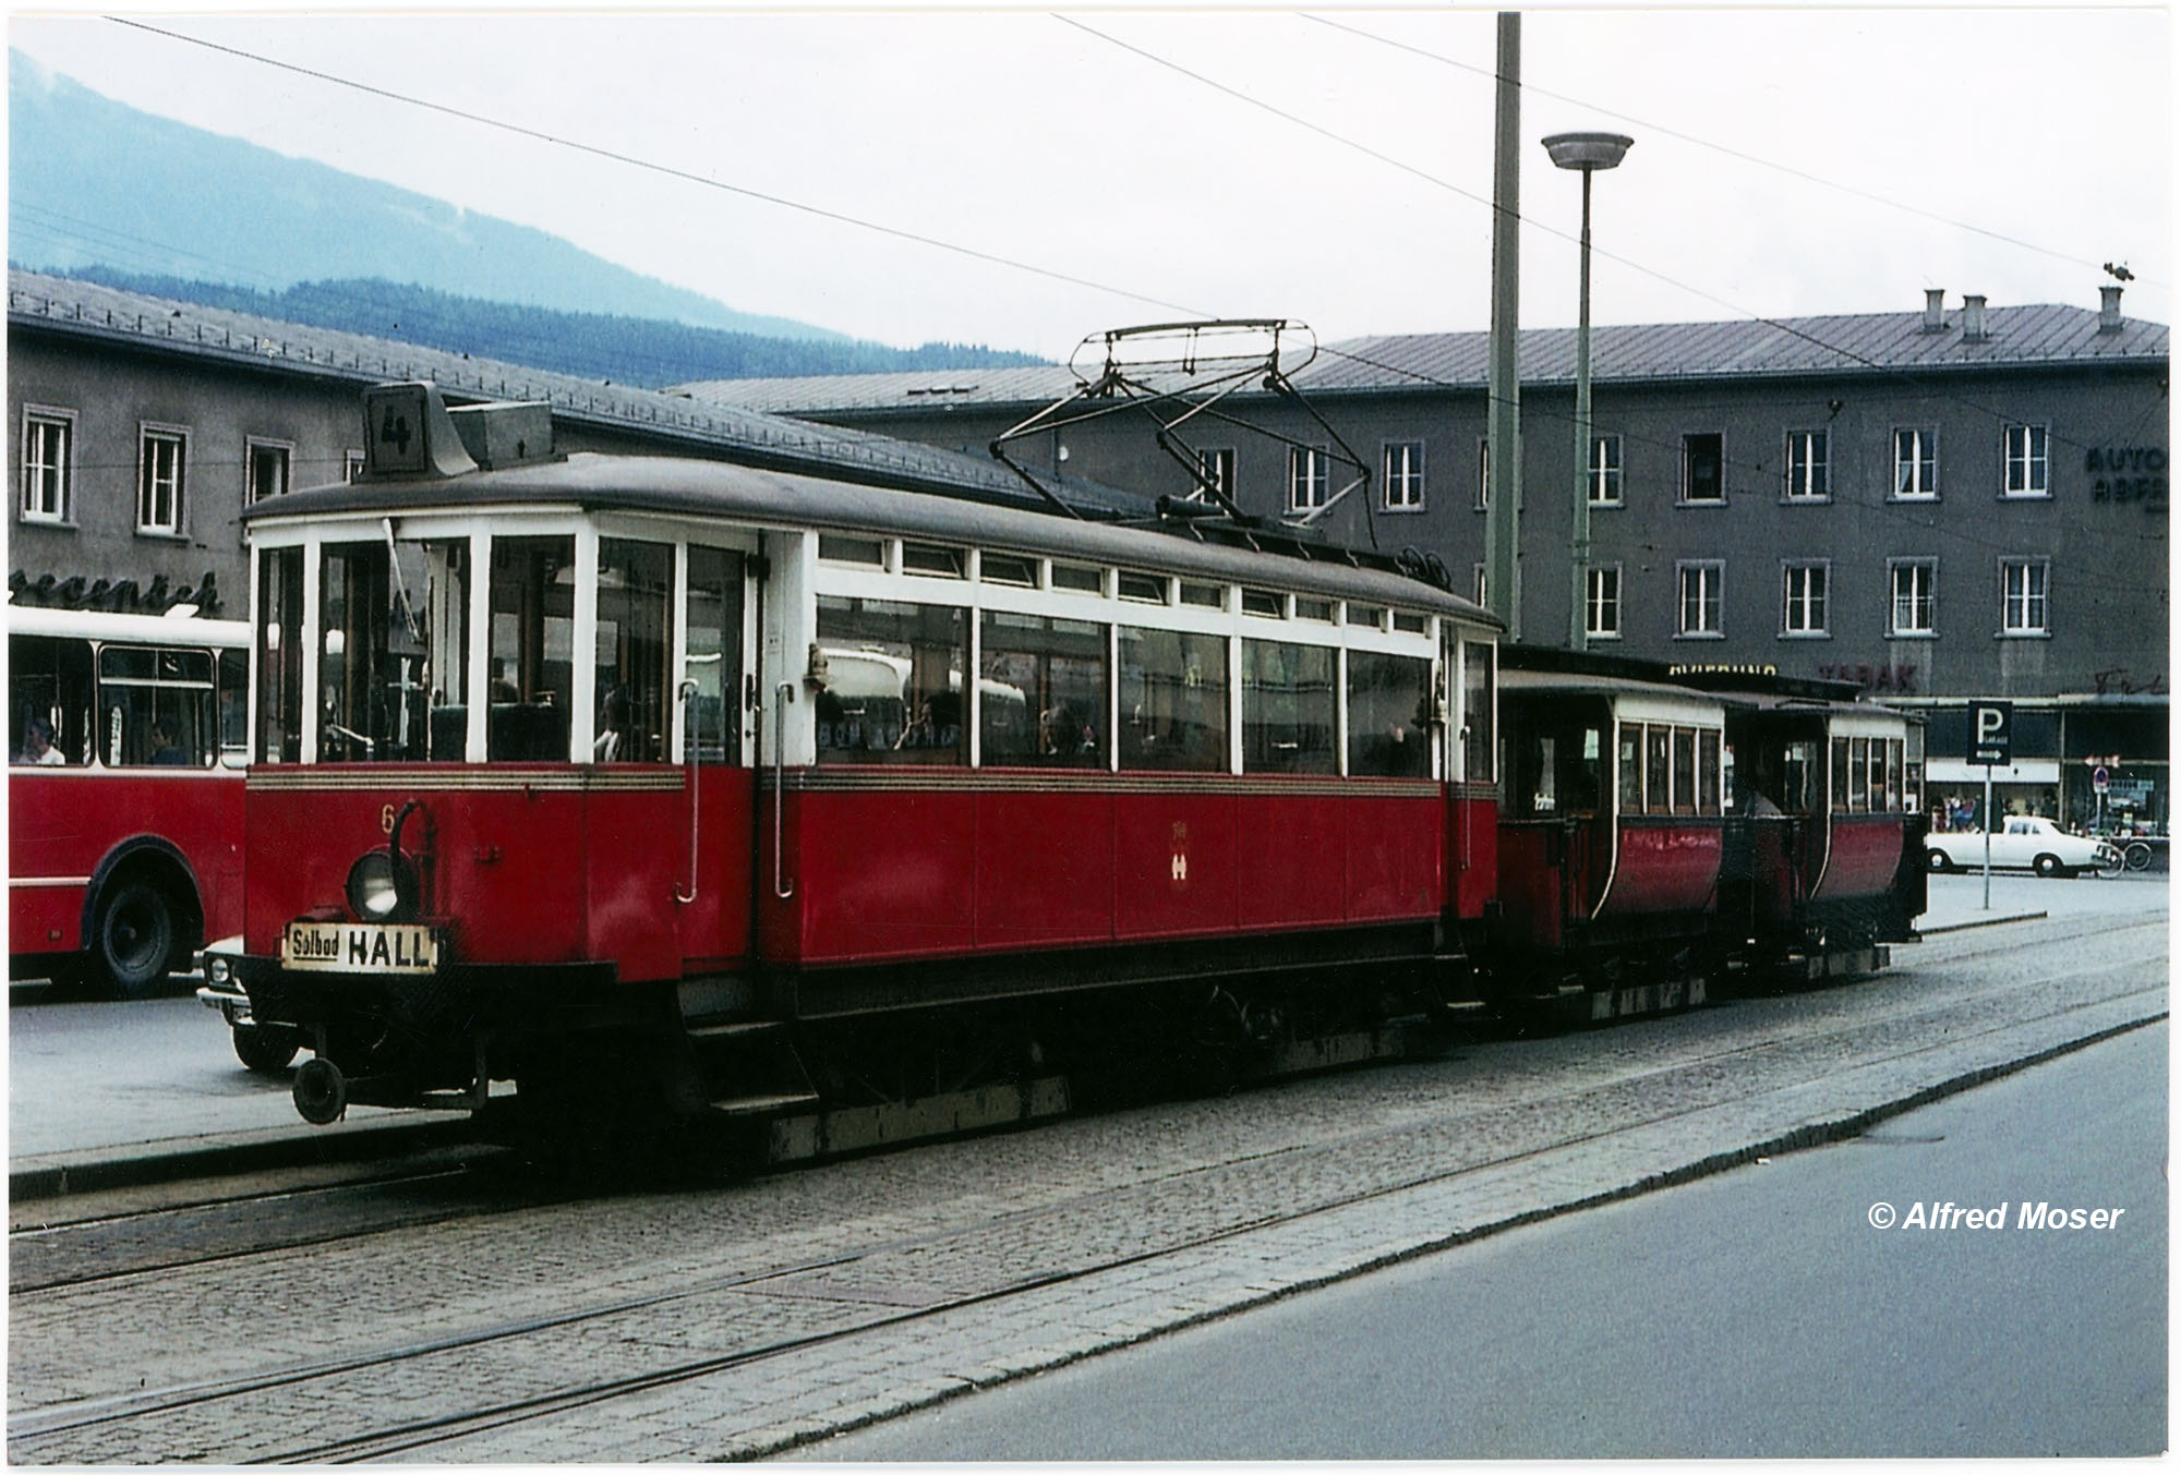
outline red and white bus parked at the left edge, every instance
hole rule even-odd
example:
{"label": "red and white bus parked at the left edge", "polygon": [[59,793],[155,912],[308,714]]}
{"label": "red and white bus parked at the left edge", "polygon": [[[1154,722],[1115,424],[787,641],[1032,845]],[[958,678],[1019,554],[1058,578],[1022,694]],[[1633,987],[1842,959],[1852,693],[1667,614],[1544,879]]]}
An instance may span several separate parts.
{"label": "red and white bus parked at the left edge", "polygon": [[242,930],[249,624],[7,609],[9,978],[142,995]]}

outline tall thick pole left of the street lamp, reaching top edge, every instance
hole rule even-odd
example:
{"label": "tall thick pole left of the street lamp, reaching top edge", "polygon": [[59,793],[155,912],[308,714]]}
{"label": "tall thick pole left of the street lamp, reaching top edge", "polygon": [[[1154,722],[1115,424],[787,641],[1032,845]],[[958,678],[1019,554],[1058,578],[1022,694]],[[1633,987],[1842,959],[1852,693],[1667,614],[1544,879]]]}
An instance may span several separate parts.
{"label": "tall thick pole left of the street lamp, reaching top edge", "polygon": [[1492,373],[1485,421],[1485,609],[1522,637],[1522,367],[1516,297],[1522,229],[1522,15],[1498,17],[1492,155]]}

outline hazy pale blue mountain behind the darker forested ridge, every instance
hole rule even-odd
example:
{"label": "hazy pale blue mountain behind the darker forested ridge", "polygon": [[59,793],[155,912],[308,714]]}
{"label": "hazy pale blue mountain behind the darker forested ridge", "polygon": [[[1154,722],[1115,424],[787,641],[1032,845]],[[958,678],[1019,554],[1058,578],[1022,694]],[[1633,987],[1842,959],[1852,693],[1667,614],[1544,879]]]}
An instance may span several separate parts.
{"label": "hazy pale blue mountain behind the darker forested ridge", "polygon": [[142,113],[17,50],[9,50],[9,260],[273,295],[303,281],[395,277],[447,297],[853,343],[737,312],[545,231]]}

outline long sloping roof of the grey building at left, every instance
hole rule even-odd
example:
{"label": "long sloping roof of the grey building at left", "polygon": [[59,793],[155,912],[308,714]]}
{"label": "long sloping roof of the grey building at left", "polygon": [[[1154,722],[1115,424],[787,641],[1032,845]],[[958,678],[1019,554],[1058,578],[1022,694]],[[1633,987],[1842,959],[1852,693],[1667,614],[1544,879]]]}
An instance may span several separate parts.
{"label": "long sloping roof of the grey building at left", "polygon": [[[818,425],[742,406],[523,369],[414,343],[122,292],[94,281],[9,271],[7,316],[11,332],[17,327],[48,329],[140,351],[181,353],[231,367],[273,369],[358,386],[430,380],[449,399],[545,401],[561,421],[656,439],[663,447],[687,454],[750,458],[848,480],[1043,506],[1040,497],[1023,487],[1012,471],[984,456],[962,456],[916,441]],[[362,401],[358,401],[358,415],[362,415]],[[1069,478],[1067,495],[1086,508],[1132,515],[1149,511],[1143,497],[1082,478]]]}

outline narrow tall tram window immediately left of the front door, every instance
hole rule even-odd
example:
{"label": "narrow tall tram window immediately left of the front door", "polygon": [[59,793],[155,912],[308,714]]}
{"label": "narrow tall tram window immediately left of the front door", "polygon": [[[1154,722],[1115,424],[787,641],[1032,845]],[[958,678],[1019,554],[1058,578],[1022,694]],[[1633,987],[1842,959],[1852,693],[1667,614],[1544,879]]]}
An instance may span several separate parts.
{"label": "narrow tall tram window immediately left of the front door", "polygon": [[591,757],[661,764],[674,731],[667,665],[674,661],[674,550],[665,543],[598,543],[598,689]]}

